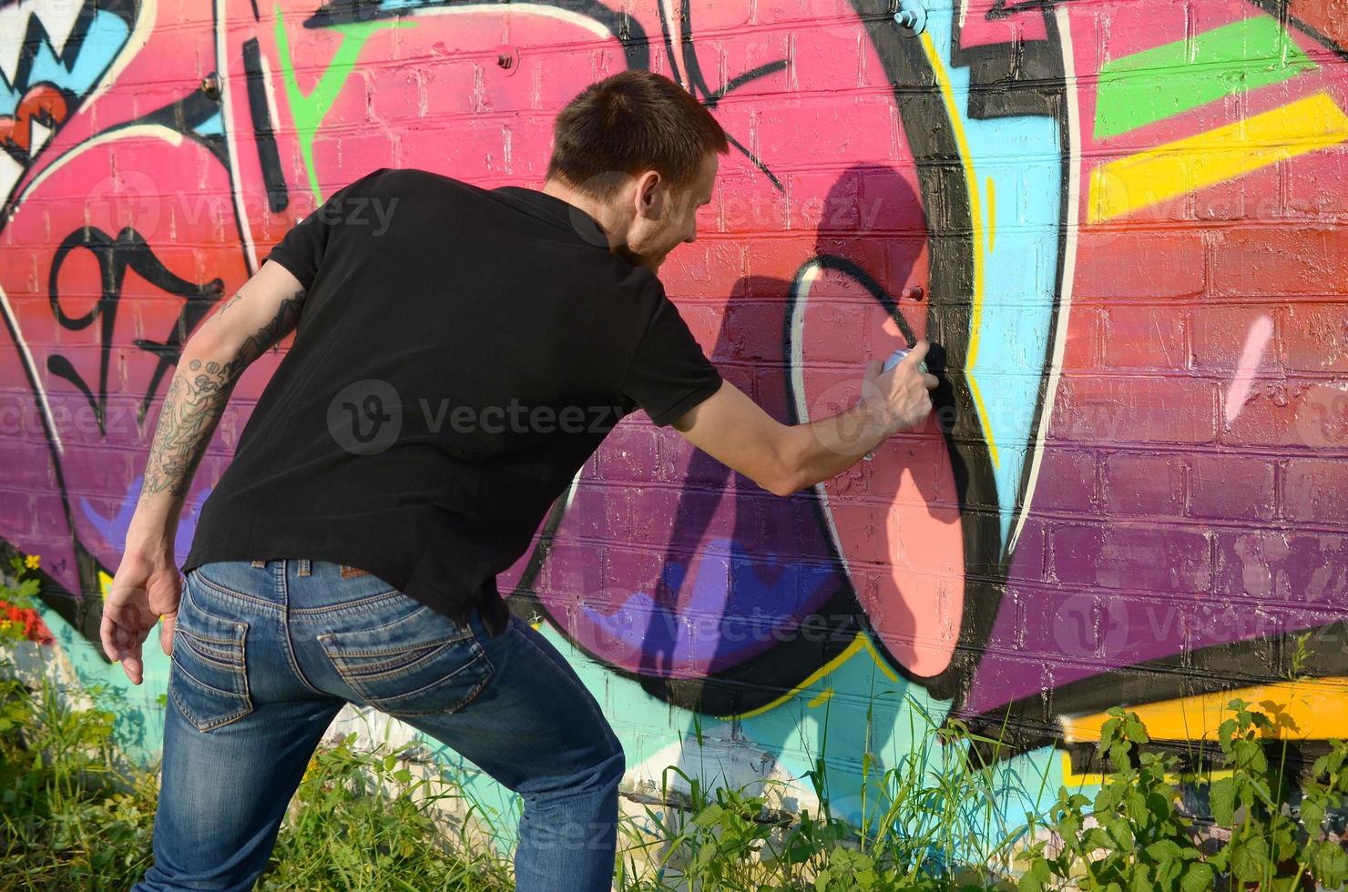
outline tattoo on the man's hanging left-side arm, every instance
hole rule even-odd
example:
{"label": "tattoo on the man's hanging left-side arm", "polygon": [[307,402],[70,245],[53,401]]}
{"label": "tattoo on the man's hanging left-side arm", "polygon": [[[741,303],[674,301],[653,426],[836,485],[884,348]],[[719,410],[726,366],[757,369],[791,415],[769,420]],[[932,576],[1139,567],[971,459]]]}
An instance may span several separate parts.
{"label": "tattoo on the man's hanging left-side arm", "polygon": [[[224,315],[239,296],[236,294],[212,318],[218,319]],[[253,360],[295,327],[303,302],[303,291],[297,291],[282,300],[276,315],[248,336],[243,346],[228,360],[193,358],[186,369],[181,367],[177,369],[164,396],[155,439],[150,446],[150,461],[140,488],[142,503],[166,489],[175,497],[187,495],[191,478],[206,454],[206,446],[220,416],[224,415],[225,404],[239,377]]]}

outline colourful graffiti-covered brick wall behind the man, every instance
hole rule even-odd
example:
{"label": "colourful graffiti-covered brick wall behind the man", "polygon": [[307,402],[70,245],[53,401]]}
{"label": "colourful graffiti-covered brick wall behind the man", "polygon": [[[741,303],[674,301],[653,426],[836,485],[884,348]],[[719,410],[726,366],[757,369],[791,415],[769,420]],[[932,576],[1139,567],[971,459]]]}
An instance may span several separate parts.
{"label": "colourful graffiti-covered brick wall behind the man", "polygon": [[[879,679],[1084,771],[1107,707],[1201,734],[1215,698],[1278,695],[1308,632],[1293,733],[1343,728],[1343,24],[961,0],[906,38],[879,0],[631,5],[0,8],[0,539],[43,555],[58,645],[101,659],[155,403],[288,226],[383,166],[538,186],[555,110],[650,67],[732,143],[662,268],[723,375],[809,420],[925,336],[944,383],[925,430],[790,499],[643,420],[605,441],[501,590],[638,717],[639,759],[701,714],[790,761]],[[179,555],[286,346],[236,388]]]}

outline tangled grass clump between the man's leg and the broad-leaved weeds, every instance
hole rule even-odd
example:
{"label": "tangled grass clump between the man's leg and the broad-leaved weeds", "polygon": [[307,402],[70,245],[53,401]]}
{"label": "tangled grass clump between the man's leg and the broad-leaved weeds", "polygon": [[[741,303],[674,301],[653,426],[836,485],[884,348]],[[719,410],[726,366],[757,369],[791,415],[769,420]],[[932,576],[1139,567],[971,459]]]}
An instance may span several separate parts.
{"label": "tangled grass clump between the man's leg and the broad-leaved weeds", "polygon": [[[874,771],[871,748],[875,702],[867,709],[865,751],[861,759],[860,822],[836,814],[828,782],[828,710],[821,752],[803,772],[818,802],[817,810],[786,815],[770,807],[764,792],[747,787],[708,788],[698,775],[677,767],[661,777],[658,811],[646,807],[644,827],[619,866],[620,889],[689,891],[814,891],[890,892],[899,889],[1012,888],[995,870],[1010,873],[1011,842],[1020,830],[1008,827],[998,796],[1004,792],[996,760],[979,767],[971,757],[973,742],[999,745],[950,721],[938,726],[921,702],[906,699],[910,740],[925,749],[898,757],[883,773]],[[922,725],[925,726],[922,726]],[[694,736],[701,728],[694,721]],[[692,741],[689,741],[692,744]],[[705,775],[705,772],[701,772]],[[670,791],[670,779],[687,792]],[[766,790],[774,783],[759,782]],[[853,791],[849,790],[849,794]],[[632,857],[648,852],[650,839],[662,848],[654,870],[644,872]],[[972,857],[971,857],[972,856]]]}

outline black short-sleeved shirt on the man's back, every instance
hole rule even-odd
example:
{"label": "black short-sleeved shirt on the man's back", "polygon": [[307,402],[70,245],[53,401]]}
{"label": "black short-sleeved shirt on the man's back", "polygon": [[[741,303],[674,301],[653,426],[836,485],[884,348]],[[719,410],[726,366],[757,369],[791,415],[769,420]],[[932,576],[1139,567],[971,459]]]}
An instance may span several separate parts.
{"label": "black short-sleeved shirt on the man's back", "polygon": [[532,189],[381,167],[267,260],[306,288],[295,340],[183,573],[330,561],[503,624],[496,574],[617,420],[670,424],[721,384],[659,279]]}

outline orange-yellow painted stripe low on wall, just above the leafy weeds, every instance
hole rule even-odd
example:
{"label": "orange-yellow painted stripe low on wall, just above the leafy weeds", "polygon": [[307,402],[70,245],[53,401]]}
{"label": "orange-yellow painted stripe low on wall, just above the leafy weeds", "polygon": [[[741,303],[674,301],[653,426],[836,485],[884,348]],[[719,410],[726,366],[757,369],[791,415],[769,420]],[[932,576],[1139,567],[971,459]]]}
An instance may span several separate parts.
{"label": "orange-yellow painted stripe low on wall, just above the leafy weeds", "polygon": [[[1328,740],[1348,734],[1348,678],[1318,678],[1277,682],[1215,691],[1198,697],[1130,706],[1147,726],[1147,736],[1161,740],[1216,740],[1217,728],[1231,710],[1227,703],[1240,698],[1268,714],[1274,722],[1283,715],[1294,725],[1283,736],[1291,740]],[[1100,740],[1107,713],[1064,717],[1062,737],[1068,742]]]}

